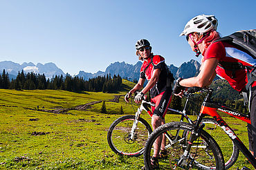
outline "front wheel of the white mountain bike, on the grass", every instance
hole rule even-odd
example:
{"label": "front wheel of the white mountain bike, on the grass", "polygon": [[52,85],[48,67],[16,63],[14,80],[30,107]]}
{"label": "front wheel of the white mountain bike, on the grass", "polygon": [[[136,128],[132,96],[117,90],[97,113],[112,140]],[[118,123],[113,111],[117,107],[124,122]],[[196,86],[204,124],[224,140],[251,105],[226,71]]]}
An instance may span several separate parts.
{"label": "front wheel of the white mountain bike, on the grass", "polygon": [[115,120],[109,127],[107,141],[109,147],[118,155],[138,157],[143,154],[145,143],[150,133],[151,126],[142,117],[138,119],[135,139],[131,140],[129,134],[134,124],[135,115],[125,115]]}

